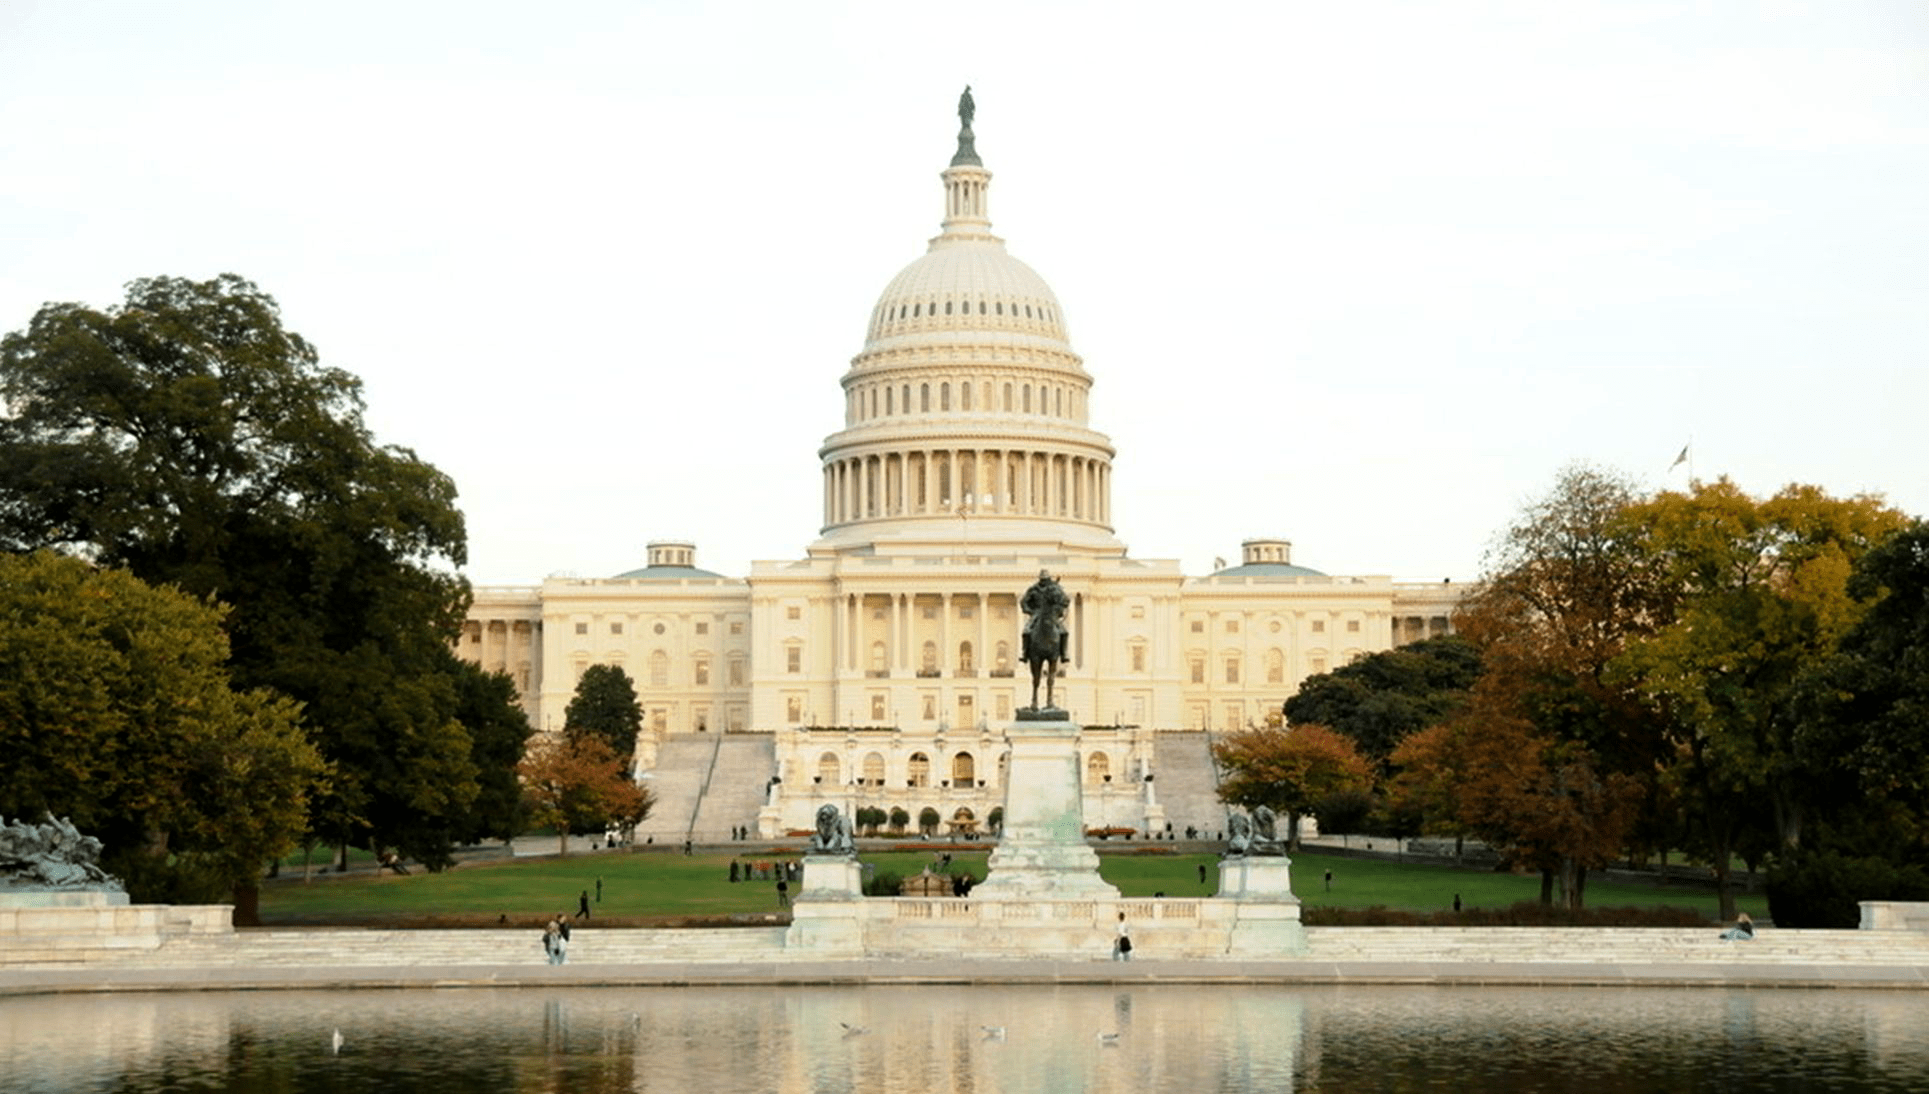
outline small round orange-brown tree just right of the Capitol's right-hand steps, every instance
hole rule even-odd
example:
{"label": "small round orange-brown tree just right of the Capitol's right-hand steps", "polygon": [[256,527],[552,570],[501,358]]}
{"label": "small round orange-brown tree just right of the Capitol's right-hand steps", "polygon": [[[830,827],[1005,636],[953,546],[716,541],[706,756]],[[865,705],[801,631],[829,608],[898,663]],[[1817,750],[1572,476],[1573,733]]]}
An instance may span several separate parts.
{"label": "small round orange-brown tree just right of the Capitol's right-hand steps", "polygon": [[1321,801],[1370,791],[1373,772],[1350,737],[1325,725],[1258,727],[1227,733],[1211,747],[1225,770],[1219,801],[1267,807],[1287,816],[1287,845],[1300,845],[1300,818]]}

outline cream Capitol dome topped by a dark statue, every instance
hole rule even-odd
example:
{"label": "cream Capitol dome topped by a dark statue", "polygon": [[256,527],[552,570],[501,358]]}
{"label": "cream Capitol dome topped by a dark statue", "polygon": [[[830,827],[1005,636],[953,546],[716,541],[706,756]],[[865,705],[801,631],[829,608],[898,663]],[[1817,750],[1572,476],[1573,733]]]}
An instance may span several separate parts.
{"label": "cream Capitol dome topped by a dark statue", "polygon": [[982,542],[1123,550],[1092,376],[1051,286],[992,235],[970,110],[939,176],[941,232],[883,287],[843,376],[845,428],[818,451],[824,546],[949,540],[970,513]]}

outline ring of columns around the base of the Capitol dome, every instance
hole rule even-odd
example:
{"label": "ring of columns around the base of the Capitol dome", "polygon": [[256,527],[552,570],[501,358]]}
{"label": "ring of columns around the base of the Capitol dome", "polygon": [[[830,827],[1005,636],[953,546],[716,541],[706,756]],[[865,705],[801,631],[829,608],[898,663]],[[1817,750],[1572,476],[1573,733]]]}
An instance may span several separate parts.
{"label": "ring of columns around the base of the Capitol dome", "polygon": [[[963,488],[961,488],[963,486]],[[1022,515],[1111,525],[1111,463],[1057,451],[924,450],[824,465],[824,523]]]}

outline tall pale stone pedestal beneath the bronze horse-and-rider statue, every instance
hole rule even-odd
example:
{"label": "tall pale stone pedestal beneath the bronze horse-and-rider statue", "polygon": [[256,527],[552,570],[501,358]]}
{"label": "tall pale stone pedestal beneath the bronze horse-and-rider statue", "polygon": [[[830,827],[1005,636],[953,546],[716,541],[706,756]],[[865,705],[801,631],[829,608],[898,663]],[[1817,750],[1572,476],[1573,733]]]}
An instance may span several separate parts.
{"label": "tall pale stone pedestal beneath the bronze horse-and-rider statue", "polygon": [[1005,739],[1005,828],[972,899],[1115,899],[1084,839],[1078,727],[1063,710],[1020,710]]}

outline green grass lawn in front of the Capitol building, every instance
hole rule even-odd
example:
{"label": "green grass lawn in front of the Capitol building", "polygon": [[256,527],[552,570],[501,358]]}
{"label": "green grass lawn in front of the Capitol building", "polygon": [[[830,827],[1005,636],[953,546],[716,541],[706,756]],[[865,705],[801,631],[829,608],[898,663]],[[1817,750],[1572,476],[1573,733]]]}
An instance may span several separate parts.
{"label": "green grass lawn in front of the Capitol building", "polygon": [[[565,859],[502,859],[469,862],[442,874],[320,874],[312,882],[284,876],[262,886],[260,915],[272,924],[314,916],[421,916],[507,915],[511,918],[575,913],[577,895],[590,893],[592,915],[602,916],[721,916],[777,911],[775,882],[729,880],[731,855],[677,855],[673,851],[604,851]],[[774,855],[739,855],[774,859]],[[899,876],[916,874],[936,861],[932,851],[866,851],[866,864]],[[1100,874],[1128,897],[1211,895],[1217,884],[1213,855],[1101,855]],[[953,853],[951,872],[984,878],[986,851]],[[1206,884],[1200,884],[1206,866]],[[1333,872],[1331,891],[1325,872]],[[602,901],[596,882],[602,880]],[[793,886],[795,889],[795,886]],[[1292,857],[1292,889],[1308,909],[1373,907],[1441,911],[1460,893],[1464,907],[1507,907],[1539,897],[1537,876],[1454,870],[1385,859],[1348,859],[1300,853]],[[1589,907],[1690,907],[1715,918],[1715,893],[1694,888],[1626,886],[1591,880]],[[1753,916],[1767,915],[1761,893],[1740,893],[1738,905]]]}

